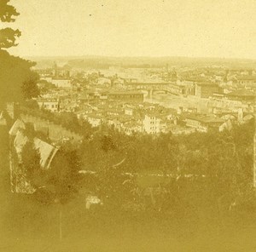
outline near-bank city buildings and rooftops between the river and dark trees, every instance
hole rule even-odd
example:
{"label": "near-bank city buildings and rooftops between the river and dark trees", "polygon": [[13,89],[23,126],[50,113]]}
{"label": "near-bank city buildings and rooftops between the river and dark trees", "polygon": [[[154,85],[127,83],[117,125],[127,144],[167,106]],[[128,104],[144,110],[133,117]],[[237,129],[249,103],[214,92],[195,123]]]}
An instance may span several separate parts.
{"label": "near-bank city buildings and rooftops between the river and dark trees", "polygon": [[[190,134],[192,132],[230,129],[233,123],[243,123],[253,117],[250,107],[235,110],[209,108],[198,112],[195,107],[173,109],[157,103],[149,103],[131,93],[77,94],[73,97],[40,98],[38,105],[51,112],[73,112],[92,127],[102,124],[126,135],[160,133]],[[128,97],[125,97],[125,96]],[[85,98],[84,98],[85,97]],[[239,113],[242,116],[238,116]]]}

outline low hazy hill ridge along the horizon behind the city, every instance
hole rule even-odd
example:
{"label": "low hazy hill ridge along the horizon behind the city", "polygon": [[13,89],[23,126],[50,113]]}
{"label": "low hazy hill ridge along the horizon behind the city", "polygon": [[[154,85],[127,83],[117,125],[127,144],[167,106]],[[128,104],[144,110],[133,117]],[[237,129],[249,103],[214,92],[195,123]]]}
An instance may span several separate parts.
{"label": "low hazy hill ridge along the horizon behind the city", "polygon": [[189,58],[189,57],[108,57],[108,56],[52,56],[27,57],[38,63],[37,68],[47,68],[56,62],[60,66],[68,64],[77,68],[103,69],[109,66],[121,67],[164,67],[172,66],[224,66],[228,68],[256,68],[256,60],[225,58]]}

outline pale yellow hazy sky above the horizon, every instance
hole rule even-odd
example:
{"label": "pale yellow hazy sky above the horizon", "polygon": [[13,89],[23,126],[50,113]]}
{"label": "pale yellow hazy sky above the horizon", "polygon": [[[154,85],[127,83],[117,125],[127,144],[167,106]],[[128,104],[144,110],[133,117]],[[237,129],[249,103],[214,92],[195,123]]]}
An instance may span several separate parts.
{"label": "pale yellow hazy sky above the horizon", "polygon": [[11,0],[26,55],[256,59],[256,0]]}

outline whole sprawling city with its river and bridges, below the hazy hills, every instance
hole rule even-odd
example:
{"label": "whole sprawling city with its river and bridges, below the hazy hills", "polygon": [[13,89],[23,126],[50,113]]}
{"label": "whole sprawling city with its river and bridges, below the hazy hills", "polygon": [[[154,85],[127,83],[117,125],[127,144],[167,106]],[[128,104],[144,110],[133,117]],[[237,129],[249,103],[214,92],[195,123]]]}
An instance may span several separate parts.
{"label": "whole sprawling city with its river and bridges, below the hazy hills", "polygon": [[[41,109],[74,112],[92,127],[106,124],[127,135],[230,129],[255,112],[256,72],[252,70],[212,66],[167,72],[115,68],[78,72],[55,65],[39,74],[55,86],[38,98]],[[155,101],[156,94],[165,94],[168,103]],[[172,106],[172,97],[182,100],[182,106]]]}

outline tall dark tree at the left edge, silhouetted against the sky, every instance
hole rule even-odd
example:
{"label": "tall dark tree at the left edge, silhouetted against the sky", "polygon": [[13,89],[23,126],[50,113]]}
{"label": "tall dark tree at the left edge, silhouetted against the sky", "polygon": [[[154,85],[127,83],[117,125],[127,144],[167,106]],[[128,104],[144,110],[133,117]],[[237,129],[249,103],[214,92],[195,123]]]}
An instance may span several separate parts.
{"label": "tall dark tree at the left edge, silhouetted against the sky", "polygon": [[[0,0],[0,20],[14,22],[19,15],[9,0]],[[0,107],[7,101],[20,101],[23,98],[21,84],[27,79],[36,79],[38,75],[31,71],[35,63],[10,55],[5,49],[17,46],[16,38],[20,30],[3,28],[0,30]]]}

